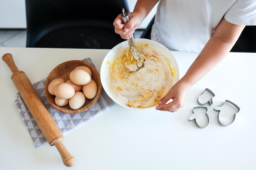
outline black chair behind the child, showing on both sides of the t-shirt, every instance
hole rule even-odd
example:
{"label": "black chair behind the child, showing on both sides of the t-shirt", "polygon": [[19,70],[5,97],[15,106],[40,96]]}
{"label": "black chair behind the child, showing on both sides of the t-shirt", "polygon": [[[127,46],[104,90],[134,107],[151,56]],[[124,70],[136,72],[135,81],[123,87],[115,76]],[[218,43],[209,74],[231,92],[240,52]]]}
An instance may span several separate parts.
{"label": "black chair behind the child, showing on both sides of the t-shirt", "polygon": [[[140,38],[151,39],[151,28],[154,24],[155,16],[148,24]],[[256,26],[245,26],[245,29],[238,38],[231,52],[256,52]]]}

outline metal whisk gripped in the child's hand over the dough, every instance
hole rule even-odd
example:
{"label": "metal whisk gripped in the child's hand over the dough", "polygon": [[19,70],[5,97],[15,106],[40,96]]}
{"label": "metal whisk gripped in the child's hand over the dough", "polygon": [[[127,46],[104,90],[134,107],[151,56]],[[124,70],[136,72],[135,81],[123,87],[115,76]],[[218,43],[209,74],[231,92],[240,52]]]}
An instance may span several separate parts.
{"label": "metal whisk gripped in the child's hand over the dough", "polygon": [[[122,17],[124,24],[126,24],[130,19],[129,14],[127,12],[125,12],[124,8],[122,10],[121,17]],[[133,35],[131,38],[128,39],[128,44],[130,46],[129,52],[130,52],[130,55],[132,55],[132,59],[139,61],[139,51],[135,46],[135,40],[134,40]]]}

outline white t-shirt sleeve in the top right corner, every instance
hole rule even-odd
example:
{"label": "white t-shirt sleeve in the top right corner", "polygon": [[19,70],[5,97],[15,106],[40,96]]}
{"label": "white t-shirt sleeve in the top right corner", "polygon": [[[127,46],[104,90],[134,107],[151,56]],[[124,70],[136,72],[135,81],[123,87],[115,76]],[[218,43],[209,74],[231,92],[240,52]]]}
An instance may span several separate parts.
{"label": "white t-shirt sleeve in the top right corner", "polygon": [[237,0],[224,17],[232,24],[256,25],[256,0]]}

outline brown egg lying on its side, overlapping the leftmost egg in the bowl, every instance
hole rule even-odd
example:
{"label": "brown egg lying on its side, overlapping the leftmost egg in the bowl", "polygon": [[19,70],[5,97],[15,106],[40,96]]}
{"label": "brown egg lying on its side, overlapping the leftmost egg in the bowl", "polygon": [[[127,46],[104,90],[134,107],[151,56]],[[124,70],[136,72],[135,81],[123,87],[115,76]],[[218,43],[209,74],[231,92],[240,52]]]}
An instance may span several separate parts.
{"label": "brown egg lying on its side, overlapping the leftmost egg in the bowl", "polygon": [[68,83],[59,83],[54,87],[54,94],[60,99],[70,99],[75,94],[75,89]]}

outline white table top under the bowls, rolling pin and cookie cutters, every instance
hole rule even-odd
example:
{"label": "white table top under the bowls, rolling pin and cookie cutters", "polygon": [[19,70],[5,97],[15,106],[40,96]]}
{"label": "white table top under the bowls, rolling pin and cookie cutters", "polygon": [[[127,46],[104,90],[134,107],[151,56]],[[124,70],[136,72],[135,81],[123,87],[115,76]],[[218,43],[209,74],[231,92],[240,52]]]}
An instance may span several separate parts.
{"label": "white table top under the bowls, rolling pin and cookie cutters", "polygon": [[[58,64],[91,57],[100,71],[109,50],[0,48],[11,53],[31,83],[47,77]],[[184,75],[197,53],[172,51]],[[131,111],[114,106],[68,132],[63,143],[76,158],[65,167],[54,146],[34,147],[14,100],[17,89],[7,64],[0,62],[0,166],[3,170],[255,170],[256,53],[229,53],[189,91],[176,113]],[[215,93],[209,125],[188,121],[205,88]],[[240,107],[233,124],[222,127],[211,109],[226,99]]]}

